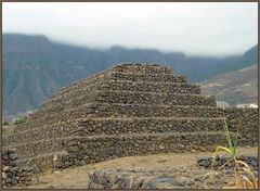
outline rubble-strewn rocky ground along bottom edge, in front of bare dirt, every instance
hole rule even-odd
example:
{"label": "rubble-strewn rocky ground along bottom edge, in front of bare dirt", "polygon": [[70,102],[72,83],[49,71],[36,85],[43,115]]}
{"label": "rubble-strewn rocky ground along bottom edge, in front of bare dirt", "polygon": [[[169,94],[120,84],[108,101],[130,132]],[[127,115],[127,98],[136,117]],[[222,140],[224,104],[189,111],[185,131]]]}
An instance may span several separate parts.
{"label": "rubble-strewn rocky ground along bottom edge, in front of bare dirt", "polygon": [[222,189],[235,181],[231,169],[217,173],[196,166],[98,170],[91,173],[91,180],[90,189]]}

